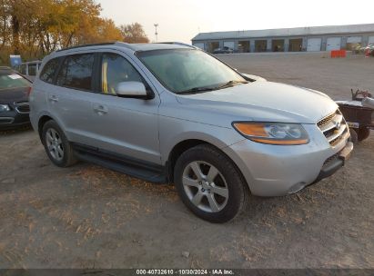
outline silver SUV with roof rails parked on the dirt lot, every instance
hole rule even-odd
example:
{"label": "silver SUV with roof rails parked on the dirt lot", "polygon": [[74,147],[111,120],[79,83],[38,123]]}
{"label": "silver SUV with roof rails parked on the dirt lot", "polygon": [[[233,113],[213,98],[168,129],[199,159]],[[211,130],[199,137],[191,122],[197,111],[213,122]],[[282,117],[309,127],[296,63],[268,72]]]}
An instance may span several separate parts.
{"label": "silver SUV with roof rails parked on the dirt lot", "polygon": [[353,146],[317,91],[240,74],[185,44],[96,44],[45,57],[30,118],[50,160],[174,182],[197,216],[227,222],[249,193],[335,173]]}

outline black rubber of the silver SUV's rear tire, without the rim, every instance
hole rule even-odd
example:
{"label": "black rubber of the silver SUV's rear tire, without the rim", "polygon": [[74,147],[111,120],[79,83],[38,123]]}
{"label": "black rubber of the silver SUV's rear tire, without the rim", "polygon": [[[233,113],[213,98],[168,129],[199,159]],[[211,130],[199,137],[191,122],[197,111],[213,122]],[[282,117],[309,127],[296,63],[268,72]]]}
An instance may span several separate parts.
{"label": "black rubber of the silver SUV's rear tire, without the rim", "polygon": [[[63,155],[60,156],[61,159],[56,158],[56,156],[53,156],[53,153],[51,153],[48,149],[47,133],[50,133],[52,131],[56,132],[57,140],[61,139],[61,144],[59,146],[59,149],[63,152]],[[76,163],[76,157],[74,156],[73,148],[67,141],[65,133],[62,131],[62,129],[58,126],[58,124],[55,121],[51,120],[44,124],[42,131],[42,142],[45,146],[45,153],[48,155],[52,163],[56,164],[56,166],[66,168]]]}

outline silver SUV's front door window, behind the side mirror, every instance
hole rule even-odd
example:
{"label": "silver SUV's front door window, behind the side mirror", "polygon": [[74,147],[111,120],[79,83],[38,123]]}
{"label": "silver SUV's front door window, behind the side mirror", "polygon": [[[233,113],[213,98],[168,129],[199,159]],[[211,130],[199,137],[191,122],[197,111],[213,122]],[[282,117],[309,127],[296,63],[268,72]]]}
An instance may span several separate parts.
{"label": "silver SUV's front door window, behind the side mirror", "polygon": [[122,82],[141,82],[143,79],[133,65],[118,54],[103,54],[102,92],[104,94],[116,94],[116,86]]}

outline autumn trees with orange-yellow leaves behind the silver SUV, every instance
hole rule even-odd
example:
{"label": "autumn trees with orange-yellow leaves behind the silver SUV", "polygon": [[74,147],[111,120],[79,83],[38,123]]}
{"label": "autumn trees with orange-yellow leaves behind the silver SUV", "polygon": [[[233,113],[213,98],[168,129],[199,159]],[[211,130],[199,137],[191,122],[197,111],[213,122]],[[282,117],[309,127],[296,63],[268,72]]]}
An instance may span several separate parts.
{"label": "autumn trees with orange-yellow leaves behind the silver SUV", "polygon": [[100,16],[95,0],[0,0],[0,64],[9,54],[24,60],[78,44],[148,43],[142,25],[116,26]]}

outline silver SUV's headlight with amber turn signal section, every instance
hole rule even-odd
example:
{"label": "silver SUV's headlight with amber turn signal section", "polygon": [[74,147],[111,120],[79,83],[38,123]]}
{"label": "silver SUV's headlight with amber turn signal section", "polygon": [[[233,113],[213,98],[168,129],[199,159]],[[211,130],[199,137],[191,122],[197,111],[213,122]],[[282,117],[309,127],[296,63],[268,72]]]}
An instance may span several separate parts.
{"label": "silver SUV's headlight with amber turn signal section", "polygon": [[308,133],[298,123],[233,123],[238,133],[249,140],[270,144],[305,144],[309,143]]}

